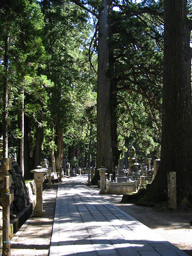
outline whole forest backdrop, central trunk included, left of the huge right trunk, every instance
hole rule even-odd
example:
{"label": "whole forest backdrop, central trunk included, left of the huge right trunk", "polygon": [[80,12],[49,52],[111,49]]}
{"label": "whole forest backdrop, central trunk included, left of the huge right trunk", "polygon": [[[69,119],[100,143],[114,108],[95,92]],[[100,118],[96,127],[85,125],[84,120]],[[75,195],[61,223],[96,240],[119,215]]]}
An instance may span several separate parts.
{"label": "whole forest backdrop, central trunk included, left of the huge right trunk", "polygon": [[140,162],[160,158],[162,0],[4,1],[0,23],[3,157],[25,177],[43,158],[113,173],[132,146]]}

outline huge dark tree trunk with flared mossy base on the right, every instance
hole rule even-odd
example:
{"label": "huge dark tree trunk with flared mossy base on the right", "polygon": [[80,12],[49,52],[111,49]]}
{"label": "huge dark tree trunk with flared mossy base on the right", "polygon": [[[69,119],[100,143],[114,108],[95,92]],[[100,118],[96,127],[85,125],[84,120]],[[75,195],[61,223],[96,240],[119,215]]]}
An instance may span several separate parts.
{"label": "huge dark tree trunk with flared mossy base on the right", "polygon": [[164,1],[164,82],[161,163],[142,195],[127,201],[167,201],[167,173],[176,171],[177,205],[192,202],[192,98],[190,27],[186,0]]}

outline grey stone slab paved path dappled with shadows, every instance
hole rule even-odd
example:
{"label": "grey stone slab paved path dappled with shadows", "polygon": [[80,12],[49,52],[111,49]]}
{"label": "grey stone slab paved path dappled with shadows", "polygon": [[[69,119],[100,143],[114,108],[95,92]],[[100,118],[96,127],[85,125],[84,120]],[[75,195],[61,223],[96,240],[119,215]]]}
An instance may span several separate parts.
{"label": "grey stone slab paved path dappled with shadows", "polygon": [[59,185],[49,256],[187,256],[85,185]]}

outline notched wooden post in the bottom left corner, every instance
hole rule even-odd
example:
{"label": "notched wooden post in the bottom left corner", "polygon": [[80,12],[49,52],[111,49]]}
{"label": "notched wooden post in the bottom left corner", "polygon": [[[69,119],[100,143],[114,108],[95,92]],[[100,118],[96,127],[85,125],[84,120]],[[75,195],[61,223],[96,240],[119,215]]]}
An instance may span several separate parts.
{"label": "notched wooden post in the bottom left corner", "polygon": [[2,193],[3,204],[3,248],[2,256],[10,256],[10,204],[14,200],[13,193],[10,193],[11,176],[8,175],[8,171],[11,170],[11,158],[7,158],[4,164],[5,176],[4,176],[4,189]]}

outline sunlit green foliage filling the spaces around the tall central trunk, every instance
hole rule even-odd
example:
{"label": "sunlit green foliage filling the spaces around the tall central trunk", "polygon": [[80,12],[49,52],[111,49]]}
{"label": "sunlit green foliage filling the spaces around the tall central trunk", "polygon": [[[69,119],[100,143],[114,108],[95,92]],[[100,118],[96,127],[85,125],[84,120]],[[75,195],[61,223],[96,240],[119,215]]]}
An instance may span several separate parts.
{"label": "sunlit green foliage filling the spaces around the tall central trunk", "polygon": [[[162,5],[155,0],[114,2],[119,9],[110,14],[113,38],[108,38],[114,67],[106,72],[117,80],[118,149],[127,151],[124,140],[128,138],[143,159],[153,151],[156,155],[160,152]],[[101,2],[85,3],[98,14]],[[13,144],[21,138],[18,118],[24,90],[24,113],[32,123],[32,150],[38,126],[44,130],[45,156],[53,147],[57,150],[53,130],[62,127],[66,157],[69,146],[80,145],[86,151],[90,141],[95,157],[98,38],[93,30],[96,18],[91,16],[68,0],[16,0],[1,5],[1,81],[4,38],[10,36],[8,110],[12,152],[18,151]],[[0,86],[1,113],[2,93]]]}

